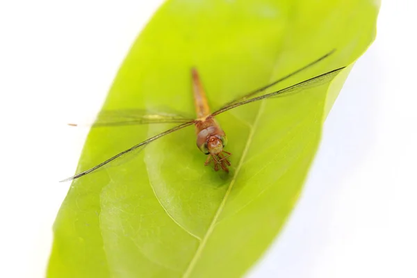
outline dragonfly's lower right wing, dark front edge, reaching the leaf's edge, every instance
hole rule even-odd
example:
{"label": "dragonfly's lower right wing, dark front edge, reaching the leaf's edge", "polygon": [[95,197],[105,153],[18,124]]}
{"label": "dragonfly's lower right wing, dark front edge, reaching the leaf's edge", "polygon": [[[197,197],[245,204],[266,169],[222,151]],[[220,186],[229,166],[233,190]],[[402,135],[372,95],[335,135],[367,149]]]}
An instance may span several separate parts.
{"label": "dragonfly's lower right wing, dark front edge, reaching the leaf's edge", "polygon": [[315,76],[311,79],[307,79],[306,81],[302,81],[300,83],[297,83],[295,85],[291,85],[290,87],[277,90],[275,92],[270,92],[265,95],[261,95],[259,97],[253,97],[252,99],[246,99],[244,101],[237,102],[235,104],[230,104],[229,106],[220,108],[218,111],[215,111],[212,113],[212,116],[218,115],[220,113],[229,111],[230,109],[236,108],[238,106],[249,104],[254,101],[259,101],[261,99],[267,99],[270,97],[283,97],[284,95],[293,95],[297,92],[302,92],[302,90],[306,90],[306,88],[312,88],[316,87],[318,85],[324,85],[325,83],[331,81],[336,74],[338,74],[341,70],[343,70],[345,67],[339,67],[336,70],[332,70],[330,72],[326,72],[325,74],[320,74],[318,76]]}

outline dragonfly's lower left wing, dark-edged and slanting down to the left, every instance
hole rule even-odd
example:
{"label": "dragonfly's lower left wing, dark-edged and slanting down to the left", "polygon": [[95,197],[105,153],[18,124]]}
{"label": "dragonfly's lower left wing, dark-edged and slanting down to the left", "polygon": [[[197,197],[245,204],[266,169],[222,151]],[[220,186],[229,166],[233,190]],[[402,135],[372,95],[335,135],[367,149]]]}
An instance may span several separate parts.
{"label": "dragonfly's lower left wing, dark-edged and slanting down to the left", "polygon": [[183,124],[180,124],[179,126],[175,126],[174,128],[172,128],[172,129],[168,129],[167,131],[164,131],[163,133],[159,133],[158,135],[156,135],[156,136],[153,136],[153,137],[151,137],[151,138],[149,138],[149,139],[147,139],[147,140],[145,140],[145,141],[143,141],[143,142],[140,142],[139,144],[137,144],[137,145],[134,145],[133,147],[130,147],[129,149],[126,149],[126,150],[124,150],[123,152],[121,152],[120,154],[116,154],[115,156],[112,156],[111,158],[108,158],[106,161],[103,161],[102,163],[100,163],[100,164],[98,164],[98,165],[95,165],[95,167],[92,167],[92,168],[90,168],[90,169],[88,169],[88,170],[85,170],[85,171],[83,171],[83,172],[81,172],[81,173],[79,173],[79,174],[75,174],[74,176],[72,176],[72,177],[69,177],[69,178],[67,178],[67,179],[63,179],[62,181],[60,181],[60,182],[64,182],[64,181],[72,181],[73,179],[78,179],[79,177],[83,177],[83,176],[85,176],[86,174],[90,174],[90,172],[93,172],[93,171],[95,171],[95,170],[97,170],[97,169],[99,169],[99,167],[103,167],[104,165],[106,165],[107,163],[110,163],[111,161],[114,161],[116,158],[120,158],[120,156],[124,156],[125,154],[128,154],[129,152],[132,152],[133,150],[142,150],[143,148],[145,148],[150,142],[153,142],[154,140],[157,140],[158,138],[161,138],[161,137],[163,137],[163,136],[165,136],[165,135],[167,135],[167,134],[170,134],[170,133],[172,133],[172,132],[174,132],[174,131],[178,131],[179,129],[183,129],[184,127],[186,127],[186,126],[190,126],[190,125],[192,125],[192,124],[194,124],[194,121],[191,121],[191,122],[186,122],[186,123],[183,123]]}

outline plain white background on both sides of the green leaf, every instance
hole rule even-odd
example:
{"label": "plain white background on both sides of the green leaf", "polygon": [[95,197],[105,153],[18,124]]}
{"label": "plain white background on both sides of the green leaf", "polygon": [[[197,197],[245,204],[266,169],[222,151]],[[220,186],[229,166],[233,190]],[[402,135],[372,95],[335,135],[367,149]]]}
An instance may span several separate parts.
{"label": "plain white background on both sides of the green leaf", "polygon": [[[0,2],[0,277],[44,276],[57,181],[88,132],[65,123],[95,114],[162,2]],[[249,277],[417,277],[416,10],[382,3],[300,202]]]}

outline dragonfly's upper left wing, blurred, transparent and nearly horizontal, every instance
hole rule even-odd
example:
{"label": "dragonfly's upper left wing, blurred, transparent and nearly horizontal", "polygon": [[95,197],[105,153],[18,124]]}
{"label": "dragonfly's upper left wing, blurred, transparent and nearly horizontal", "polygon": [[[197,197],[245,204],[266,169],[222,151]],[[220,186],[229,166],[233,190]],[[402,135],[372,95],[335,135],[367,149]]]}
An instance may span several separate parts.
{"label": "dragonfly's upper left wing, blurred, transparent and nearly horizontal", "polygon": [[104,110],[95,120],[88,123],[70,124],[70,126],[126,126],[136,124],[185,123],[193,119],[174,113],[149,113],[140,109]]}

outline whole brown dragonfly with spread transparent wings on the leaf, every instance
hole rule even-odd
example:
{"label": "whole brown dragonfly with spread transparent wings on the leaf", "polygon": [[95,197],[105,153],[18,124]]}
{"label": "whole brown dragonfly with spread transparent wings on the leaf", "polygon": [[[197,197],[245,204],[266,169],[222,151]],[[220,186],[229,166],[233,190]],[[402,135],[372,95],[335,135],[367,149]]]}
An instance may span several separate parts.
{"label": "whole brown dragonfly with spread transparent wings on the leaf", "polygon": [[[175,131],[179,131],[191,125],[195,125],[195,133],[197,136],[197,147],[199,148],[201,152],[203,152],[204,154],[208,156],[204,165],[211,165],[211,163],[213,163],[213,169],[215,171],[218,171],[221,169],[225,172],[229,172],[229,166],[231,166],[229,157],[231,156],[231,153],[224,150],[224,147],[226,147],[227,145],[227,136],[226,136],[226,133],[224,133],[224,131],[220,127],[220,124],[218,124],[218,122],[215,120],[215,116],[221,113],[224,113],[226,111],[229,111],[231,109],[234,109],[236,107],[239,107],[239,106],[251,104],[256,101],[261,101],[263,99],[281,97],[281,96],[290,95],[290,94],[293,95],[294,93],[301,92],[302,90],[305,90],[306,88],[311,88],[313,86],[321,85],[321,84],[325,84],[329,82],[332,78],[334,78],[334,76],[336,76],[336,74],[338,74],[338,72],[343,70],[345,67],[338,67],[335,70],[331,70],[329,72],[325,72],[318,76],[314,76],[311,79],[307,79],[305,81],[295,83],[294,85],[283,88],[281,90],[265,93],[265,90],[267,90],[268,88],[271,88],[273,85],[277,85],[277,83],[280,83],[286,79],[289,79],[291,76],[294,76],[295,74],[298,74],[310,67],[313,67],[313,65],[320,63],[322,60],[325,60],[326,58],[334,54],[335,51],[336,49],[329,51],[327,54],[321,56],[320,58],[317,58],[316,60],[313,60],[308,65],[305,65],[304,67],[301,67],[300,69],[295,70],[294,72],[291,72],[290,74],[287,74],[286,76],[283,76],[280,79],[268,85],[263,86],[262,88],[259,88],[241,97],[238,97],[238,99],[234,99],[234,101],[230,101],[227,104],[224,104],[223,106],[221,106],[218,110],[214,112],[210,111],[206,93],[204,92],[204,88],[202,85],[202,81],[199,78],[197,69],[194,67],[191,69],[191,76],[192,76],[192,82],[193,82],[195,111],[197,115],[195,119],[186,119],[184,117],[178,117],[176,115],[172,115],[169,113],[168,114],[146,114],[145,113],[142,115],[138,115],[138,113],[135,113],[135,111],[123,111],[123,113],[120,113],[120,111],[107,111],[104,113],[99,113],[99,115],[97,116],[97,120],[92,125],[93,127],[119,126],[119,125],[126,125],[126,124],[156,124],[156,123],[177,123],[179,125],[174,126],[173,128],[168,129],[167,131],[159,133],[156,136],[152,136],[151,138],[148,138],[147,140],[140,142],[134,145],[133,147],[130,147],[129,149],[126,149],[123,152],[120,152],[119,154],[112,156],[111,158],[108,158],[106,161],[103,161],[102,163],[99,163],[98,165],[95,165],[94,167],[88,170],[79,172],[78,174],[75,174],[72,177],[64,179],[63,181],[72,181],[74,179],[79,179],[80,177],[83,177],[86,174],[90,174],[91,172],[94,172],[100,167],[103,167],[104,165],[110,163],[111,161],[114,161],[115,159],[120,158],[121,156],[131,153],[136,149],[141,150],[147,145],[149,145],[151,142],[154,142],[155,140],[158,140],[159,138],[162,138],[163,136],[167,136],[170,133],[174,133]],[[76,124],[70,124],[70,125],[76,126]]]}

